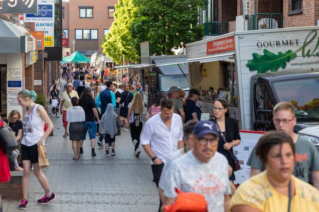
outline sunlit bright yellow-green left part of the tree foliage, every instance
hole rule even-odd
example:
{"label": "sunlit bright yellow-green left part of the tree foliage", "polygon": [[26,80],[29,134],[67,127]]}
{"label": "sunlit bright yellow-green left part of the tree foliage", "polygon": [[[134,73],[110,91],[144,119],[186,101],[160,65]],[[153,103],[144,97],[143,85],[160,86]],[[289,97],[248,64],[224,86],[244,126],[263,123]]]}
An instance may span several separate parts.
{"label": "sunlit bright yellow-green left part of the tree foliage", "polygon": [[101,45],[103,53],[118,64],[122,63],[123,55],[126,60],[139,60],[132,46],[131,32],[128,30],[134,19],[135,11],[133,0],[119,0],[119,3],[115,5],[114,22]]}

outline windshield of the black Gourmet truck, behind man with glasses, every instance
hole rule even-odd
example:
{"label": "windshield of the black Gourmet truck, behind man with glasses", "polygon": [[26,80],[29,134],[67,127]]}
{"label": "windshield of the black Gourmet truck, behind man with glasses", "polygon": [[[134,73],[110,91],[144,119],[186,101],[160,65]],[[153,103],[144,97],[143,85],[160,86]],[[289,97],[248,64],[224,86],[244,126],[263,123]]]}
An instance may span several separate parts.
{"label": "windshield of the black Gourmet truck, behind man with glasses", "polygon": [[294,105],[298,122],[318,122],[319,77],[278,81],[273,87],[279,101]]}

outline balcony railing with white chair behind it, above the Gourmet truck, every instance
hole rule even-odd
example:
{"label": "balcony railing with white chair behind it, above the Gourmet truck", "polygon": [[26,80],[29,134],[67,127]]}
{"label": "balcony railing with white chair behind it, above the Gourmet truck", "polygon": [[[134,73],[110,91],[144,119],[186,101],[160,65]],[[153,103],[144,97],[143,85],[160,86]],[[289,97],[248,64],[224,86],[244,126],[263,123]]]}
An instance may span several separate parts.
{"label": "balcony railing with white chair behind it, above the Gourmet truck", "polygon": [[283,28],[282,13],[256,13],[248,19],[248,30]]}

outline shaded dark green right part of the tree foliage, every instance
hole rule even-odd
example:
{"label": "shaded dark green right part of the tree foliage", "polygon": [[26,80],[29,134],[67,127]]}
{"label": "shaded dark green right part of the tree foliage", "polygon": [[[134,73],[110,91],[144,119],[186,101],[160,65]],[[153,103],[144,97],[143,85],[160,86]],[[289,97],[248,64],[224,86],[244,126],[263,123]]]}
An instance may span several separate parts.
{"label": "shaded dark green right part of the tree foliage", "polygon": [[170,55],[171,49],[200,40],[203,28],[197,25],[198,8],[204,0],[134,0],[137,6],[131,31],[135,48],[149,41],[151,55]]}

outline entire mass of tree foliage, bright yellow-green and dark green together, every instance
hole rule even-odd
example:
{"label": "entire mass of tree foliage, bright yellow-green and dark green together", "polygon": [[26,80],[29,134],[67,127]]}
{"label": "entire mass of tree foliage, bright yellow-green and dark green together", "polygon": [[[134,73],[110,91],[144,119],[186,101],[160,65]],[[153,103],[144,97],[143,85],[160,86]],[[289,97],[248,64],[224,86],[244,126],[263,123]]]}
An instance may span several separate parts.
{"label": "entire mass of tree foliage, bright yellow-green and dark green together", "polygon": [[149,41],[151,55],[170,55],[171,49],[200,40],[198,7],[204,0],[119,0],[103,52],[115,62],[140,59],[140,43]]}

